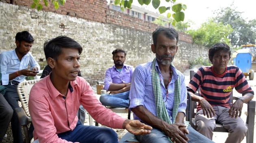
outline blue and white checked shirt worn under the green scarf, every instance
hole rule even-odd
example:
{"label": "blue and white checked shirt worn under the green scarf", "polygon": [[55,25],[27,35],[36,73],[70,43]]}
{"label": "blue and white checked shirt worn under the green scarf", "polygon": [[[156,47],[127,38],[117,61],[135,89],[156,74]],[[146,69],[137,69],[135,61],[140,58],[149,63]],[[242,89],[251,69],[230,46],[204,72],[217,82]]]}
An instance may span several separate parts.
{"label": "blue and white checked shirt worn under the green scarf", "polygon": [[[156,105],[154,99],[153,86],[151,82],[151,67],[152,62],[143,63],[138,65],[135,68],[135,71],[132,74],[132,82],[130,87],[130,109],[135,108],[139,105],[143,105],[146,109],[148,109],[154,116],[156,114]],[[156,71],[160,74],[161,77],[161,93],[163,95],[163,100],[166,99],[166,89],[165,84],[163,83],[163,76],[161,75],[161,71],[158,67],[158,63],[156,61]],[[169,114],[172,123],[172,109],[174,106],[174,82],[178,80],[178,74],[180,75],[180,104],[178,112],[183,112],[186,115],[186,107],[187,107],[187,88],[184,82],[184,75],[175,69],[175,67],[171,66],[173,71],[173,75],[171,78],[171,82],[168,86],[168,99],[165,102],[165,107]],[[141,120],[135,114],[133,114],[134,120]]]}

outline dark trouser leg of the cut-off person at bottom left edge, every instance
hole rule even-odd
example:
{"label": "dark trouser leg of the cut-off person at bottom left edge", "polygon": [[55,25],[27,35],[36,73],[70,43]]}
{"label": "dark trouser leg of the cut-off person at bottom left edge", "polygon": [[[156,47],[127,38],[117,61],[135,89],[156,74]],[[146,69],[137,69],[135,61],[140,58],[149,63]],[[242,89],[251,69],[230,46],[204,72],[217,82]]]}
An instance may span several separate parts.
{"label": "dark trouser leg of the cut-off person at bottom left edge", "polygon": [[13,109],[5,100],[4,95],[0,93],[0,143],[7,131],[11,117],[13,116]]}

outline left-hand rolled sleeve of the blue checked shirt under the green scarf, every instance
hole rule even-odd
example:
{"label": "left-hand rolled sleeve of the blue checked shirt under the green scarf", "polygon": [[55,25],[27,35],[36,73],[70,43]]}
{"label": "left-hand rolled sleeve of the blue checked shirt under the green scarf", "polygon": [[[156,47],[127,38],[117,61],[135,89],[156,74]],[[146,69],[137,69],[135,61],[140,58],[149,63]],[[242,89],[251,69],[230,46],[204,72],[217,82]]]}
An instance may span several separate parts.
{"label": "left-hand rolled sleeve of the blue checked shirt under the green scarf", "polygon": [[145,91],[145,75],[141,71],[141,67],[136,67],[132,74],[132,81],[130,87],[130,107],[135,108],[139,105],[144,105],[144,91]]}

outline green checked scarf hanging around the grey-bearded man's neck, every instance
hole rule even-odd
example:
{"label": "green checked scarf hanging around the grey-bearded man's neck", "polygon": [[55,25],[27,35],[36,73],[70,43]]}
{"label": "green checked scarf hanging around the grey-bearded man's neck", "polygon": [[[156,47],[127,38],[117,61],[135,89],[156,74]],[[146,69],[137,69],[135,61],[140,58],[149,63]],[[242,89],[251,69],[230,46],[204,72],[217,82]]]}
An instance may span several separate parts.
{"label": "green checked scarf hanging around the grey-bearded man's neck", "polygon": [[[156,58],[153,60],[152,71],[151,71],[152,86],[153,86],[155,104],[156,104],[156,114],[159,119],[162,119],[163,121],[171,124],[169,115],[167,113],[167,110],[165,108],[165,104],[163,101],[163,95],[161,93],[160,77],[156,71],[155,65],[156,65]],[[172,63],[171,65],[174,66]],[[175,123],[175,119],[178,114],[179,104],[180,104],[180,76],[178,75],[178,80],[176,80],[174,83],[174,107],[173,107],[172,116],[171,116],[173,123]]]}

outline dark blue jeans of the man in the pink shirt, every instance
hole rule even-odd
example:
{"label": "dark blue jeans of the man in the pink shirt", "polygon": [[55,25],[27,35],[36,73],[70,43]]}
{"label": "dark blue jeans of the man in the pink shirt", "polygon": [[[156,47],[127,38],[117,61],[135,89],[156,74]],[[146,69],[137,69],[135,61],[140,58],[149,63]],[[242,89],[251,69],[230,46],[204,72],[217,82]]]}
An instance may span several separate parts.
{"label": "dark blue jeans of the man in the pink shirt", "polygon": [[118,143],[117,133],[106,127],[85,126],[80,120],[74,130],[59,133],[58,137],[71,142],[79,143]]}

